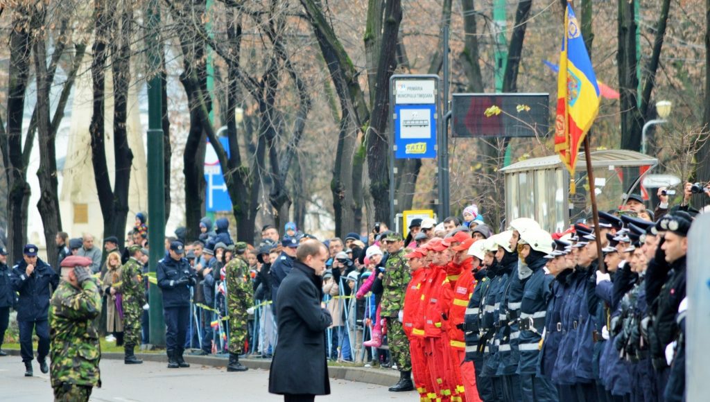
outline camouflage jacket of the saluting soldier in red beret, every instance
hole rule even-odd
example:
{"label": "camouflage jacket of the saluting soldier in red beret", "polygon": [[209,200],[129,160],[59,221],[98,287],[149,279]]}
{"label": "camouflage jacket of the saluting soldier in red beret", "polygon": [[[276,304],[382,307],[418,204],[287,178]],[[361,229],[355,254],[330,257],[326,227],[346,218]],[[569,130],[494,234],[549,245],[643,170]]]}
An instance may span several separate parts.
{"label": "camouflage jacket of the saluting soldier in red beret", "polygon": [[66,281],[50,300],[50,376],[52,386],[62,383],[101,386],[101,347],[94,318],[101,313],[98,284],[90,279],[77,289]]}

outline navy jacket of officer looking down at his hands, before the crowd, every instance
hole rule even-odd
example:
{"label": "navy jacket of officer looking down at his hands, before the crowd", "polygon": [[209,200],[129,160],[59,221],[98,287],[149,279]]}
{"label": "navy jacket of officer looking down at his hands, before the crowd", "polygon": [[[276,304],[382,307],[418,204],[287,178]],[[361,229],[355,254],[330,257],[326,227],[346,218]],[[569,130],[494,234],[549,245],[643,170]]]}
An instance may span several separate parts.
{"label": "navy jacket of officer looking down at his hands, before the crowd", "polygon": [[190,286],[197,274],[187,259],[175,261],[169,256],[158,261],[158,287],[163,290],[163,307],[190,307]]}

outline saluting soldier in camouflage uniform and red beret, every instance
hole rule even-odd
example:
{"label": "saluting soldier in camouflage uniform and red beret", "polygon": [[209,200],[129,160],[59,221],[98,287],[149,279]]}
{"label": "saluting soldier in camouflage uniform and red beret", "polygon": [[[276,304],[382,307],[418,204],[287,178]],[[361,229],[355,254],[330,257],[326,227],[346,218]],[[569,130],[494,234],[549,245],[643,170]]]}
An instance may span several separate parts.
{"label": "saluting soldier in camouflage uniform and red beret", "polygon": [[101,386],[101,347],[94,318],[101,313],[101,290],[86,257],[62,260],[62,281],[50,301],[50,377],[55,401],[89,401]]}

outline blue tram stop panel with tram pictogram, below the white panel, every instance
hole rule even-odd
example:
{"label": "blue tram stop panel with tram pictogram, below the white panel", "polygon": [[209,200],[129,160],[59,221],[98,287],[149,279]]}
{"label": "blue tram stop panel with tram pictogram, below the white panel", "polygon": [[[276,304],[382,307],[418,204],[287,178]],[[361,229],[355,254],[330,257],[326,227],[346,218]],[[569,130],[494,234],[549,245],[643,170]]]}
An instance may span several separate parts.
{"label": "blue tram stop panel with tram pictogram, below the white panel", "polygon": [[395,104],[395,158],[436,158],[436,104]]}

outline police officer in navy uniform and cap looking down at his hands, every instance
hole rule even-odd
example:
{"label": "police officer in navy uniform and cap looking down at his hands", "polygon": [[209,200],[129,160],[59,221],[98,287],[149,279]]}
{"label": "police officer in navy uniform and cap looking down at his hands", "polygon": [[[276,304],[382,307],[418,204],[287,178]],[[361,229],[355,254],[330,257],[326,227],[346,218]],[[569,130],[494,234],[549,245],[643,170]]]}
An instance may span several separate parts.
{"label": "police officer in navy uniform and cap looking down at his hands", "polygon": [[190,322],[190,286],[195,286],[197,274],[183,258],[185,246],[180,241],[170,243],[169,256],[158,261],[158,286],[163,290],[165,316],[165,347],[168,368],[189,367],[182,353],[185,351],[187,325]]}

